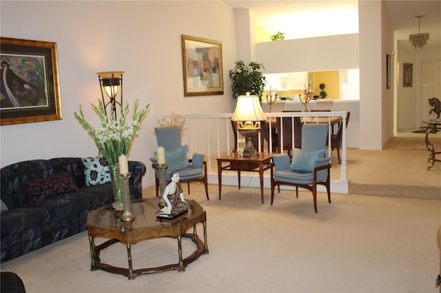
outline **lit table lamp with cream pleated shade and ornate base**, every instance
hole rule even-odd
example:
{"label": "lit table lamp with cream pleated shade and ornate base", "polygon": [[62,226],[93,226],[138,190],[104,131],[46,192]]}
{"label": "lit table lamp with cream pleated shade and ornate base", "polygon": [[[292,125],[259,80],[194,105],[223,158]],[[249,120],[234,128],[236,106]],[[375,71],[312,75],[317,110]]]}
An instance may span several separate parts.
{"label": "lit table lamp with cream pleated shade and ornate base", "polygon": [[232,120],[238,122],[237,129],[245,137],[244,156],[249,157],[256,153],[251,139],[259,134],[260,121],[265,119],[258,96],[250,96],[249,93],[246,96],[238,96]]}

